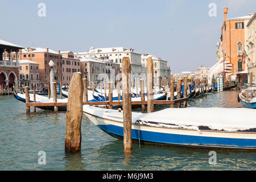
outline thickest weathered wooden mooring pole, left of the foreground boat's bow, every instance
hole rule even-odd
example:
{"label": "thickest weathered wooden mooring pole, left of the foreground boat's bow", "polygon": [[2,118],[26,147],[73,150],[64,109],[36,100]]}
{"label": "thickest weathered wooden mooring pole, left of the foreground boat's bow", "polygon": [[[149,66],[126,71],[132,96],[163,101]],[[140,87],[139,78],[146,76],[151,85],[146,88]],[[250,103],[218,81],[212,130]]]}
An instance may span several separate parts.
{"label": "thickest weathered wooden mooring pole, left of the foreground boat's bow", "polygon": [[75,153],[81,150],[82,96],[84,85],[81,73],[73,73],[68,90],[67,120],[65,134],[65,152]]}

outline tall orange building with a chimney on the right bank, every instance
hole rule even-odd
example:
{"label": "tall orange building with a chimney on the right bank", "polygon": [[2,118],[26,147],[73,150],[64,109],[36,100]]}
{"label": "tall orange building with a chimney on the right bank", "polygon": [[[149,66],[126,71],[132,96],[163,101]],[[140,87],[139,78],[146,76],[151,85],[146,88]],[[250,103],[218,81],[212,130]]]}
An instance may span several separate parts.
{"label": "tall orange building with a chimney on the right bank", "polygon": [[[232,64],[231,73],[225,74],[225,81],[230,80],[230,76],[245,71],[246,65],[243,64],[242,54],[245,49],[245,40],[247,35],[247,23],[253,14],[237,18],[227,19],[228,8],[224,8],[224,22],[221,27],[221,38],[218,45],[218,55],[224,56],[225,61]],[[221,59],[221,58],[220,58]]]}

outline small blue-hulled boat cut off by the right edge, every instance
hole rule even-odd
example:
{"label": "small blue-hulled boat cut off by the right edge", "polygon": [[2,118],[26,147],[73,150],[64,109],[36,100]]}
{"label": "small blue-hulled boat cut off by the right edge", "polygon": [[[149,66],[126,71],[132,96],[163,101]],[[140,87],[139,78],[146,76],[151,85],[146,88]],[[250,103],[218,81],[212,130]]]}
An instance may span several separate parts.
{"label": "small blue-hulled boat cut off by the right edge", "polygon": [[256,109],[256,87],[249,87],[238,94],[238,102],[241,102],[243,107]]}

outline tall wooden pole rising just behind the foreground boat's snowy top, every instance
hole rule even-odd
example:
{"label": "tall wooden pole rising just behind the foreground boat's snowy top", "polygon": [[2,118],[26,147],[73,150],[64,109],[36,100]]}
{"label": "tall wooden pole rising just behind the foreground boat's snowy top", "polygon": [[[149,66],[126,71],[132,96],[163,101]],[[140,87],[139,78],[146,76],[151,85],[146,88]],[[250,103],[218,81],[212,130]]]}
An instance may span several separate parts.
{"label": "tall wooden pole rising just behind the foreground boat's snowy top", "polygon": [[153,61],[152,57],[147,59],[147,113],[154,112],[154,92],[153,92]]}

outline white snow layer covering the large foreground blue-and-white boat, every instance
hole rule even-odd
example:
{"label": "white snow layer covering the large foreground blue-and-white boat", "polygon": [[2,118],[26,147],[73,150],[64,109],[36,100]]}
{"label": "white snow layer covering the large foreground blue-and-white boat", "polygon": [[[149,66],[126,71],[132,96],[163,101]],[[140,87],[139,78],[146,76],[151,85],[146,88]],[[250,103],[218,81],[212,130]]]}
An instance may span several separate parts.
{"label": "white snow layer covering the large foreground blue-and-white boat", "polygon": [[[84,105],[83,111],[105,119],[123,122],[123,113],[118,110],[101,109]],[[210,130],[243,131],[256,129],[255,110],[247,108],[187,107],[168,108],[154,113],[132,113],[132,122],[150,126]]]}

